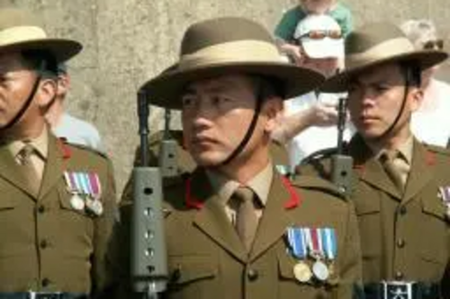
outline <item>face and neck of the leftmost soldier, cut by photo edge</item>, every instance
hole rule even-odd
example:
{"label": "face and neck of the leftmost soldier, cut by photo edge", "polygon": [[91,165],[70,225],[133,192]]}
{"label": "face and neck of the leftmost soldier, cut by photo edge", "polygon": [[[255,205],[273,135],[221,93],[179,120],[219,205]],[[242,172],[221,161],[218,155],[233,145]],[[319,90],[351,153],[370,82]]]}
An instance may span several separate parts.
{"label": "face and neck of the leftmost soldier, cut by photo edge", "polygon": [[23,114],[23,117],[7,132],[2,131],[2,128],[8,126],[19,111],[23,109],[36,80],[36,72],[25,65],[20,54],[5,53],[0,55],[1,136],[8,135],[16,138],[39,136],[44,124],[42,110],[52,98],[49,80],[40,82],[30,107]]}

